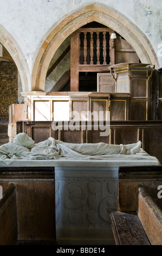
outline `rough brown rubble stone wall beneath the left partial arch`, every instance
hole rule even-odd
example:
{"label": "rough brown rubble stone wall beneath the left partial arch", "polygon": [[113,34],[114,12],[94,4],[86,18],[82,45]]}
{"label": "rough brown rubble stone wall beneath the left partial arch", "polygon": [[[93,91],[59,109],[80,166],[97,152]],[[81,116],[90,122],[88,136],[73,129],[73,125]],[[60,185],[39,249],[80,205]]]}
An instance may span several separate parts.
{"label": "rough brown rubble stone wall beneath the left partial arch", "polygon": [[17,100],[17,67],[0,62],[0,120],[8,119],[9,106]]}

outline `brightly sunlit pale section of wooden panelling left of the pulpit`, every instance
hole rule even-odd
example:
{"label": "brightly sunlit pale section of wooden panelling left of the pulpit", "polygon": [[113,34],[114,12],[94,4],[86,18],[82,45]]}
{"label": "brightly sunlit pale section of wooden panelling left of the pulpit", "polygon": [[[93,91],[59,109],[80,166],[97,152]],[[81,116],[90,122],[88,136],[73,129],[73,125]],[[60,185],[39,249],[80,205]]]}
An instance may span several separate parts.
{"label": "brightly sunlit pale section of wooden panelling left of the pulpit", "polygon": [[[97,95],[94,95],[97,94]],[[92,96],[91,96],[92,95]],[[47,101],[48,99],[48,101]],[[44,116],[46,115],[46,120],[54,121],[69,121],[69,120],[90,120],[90,112],[96,111],[99,115],[100,111],[104,112],[104,120],[106,119],[105,111],[108,111],[109,106],[109,94],[106,93],[88,93],[79,95],[56,95],[56,96],[46,96],[46,97],[30,97],[28,103],[28,116],[30,113],[31,120],[44,121]],[[91,103],[90,103],[91,101]],[[37,105],[38,104],[38,105]],[[46,106],[42,112],[42,116],[38,112],[36,106],[42,109]],[[75,116],[74,116],[74,115]]]}

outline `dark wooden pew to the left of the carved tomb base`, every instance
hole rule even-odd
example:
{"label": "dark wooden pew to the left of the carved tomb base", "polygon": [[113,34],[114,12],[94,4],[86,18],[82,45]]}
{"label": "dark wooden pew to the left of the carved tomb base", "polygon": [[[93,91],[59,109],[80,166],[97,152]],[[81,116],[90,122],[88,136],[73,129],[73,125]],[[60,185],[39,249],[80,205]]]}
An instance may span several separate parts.
{"label": "dark wooden pew to the left of the carved tomb base", "polygon": [[17,231],[11,229],[15,234],[13,243],[17,240],[17,245],[56,245],[54,167],[0,167],[0,185],[3,190],[16,187],[11,193],[16,193],[14,198],[1,199],[4,203],[11,199],[0,221],[1,228],[8,227],[4,237],[17,217],[17,227],[13,226]]}

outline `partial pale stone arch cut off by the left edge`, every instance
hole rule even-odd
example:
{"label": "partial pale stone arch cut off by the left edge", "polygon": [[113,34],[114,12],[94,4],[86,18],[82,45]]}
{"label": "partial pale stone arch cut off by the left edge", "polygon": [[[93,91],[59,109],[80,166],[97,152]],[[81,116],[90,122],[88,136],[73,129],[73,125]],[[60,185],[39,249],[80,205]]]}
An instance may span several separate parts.
{"label": "partial pale stone arch cut off by the left edge", "polygon": [[20,73],[21,77],[23,91],[28,92],[30,90],[31,84],[28,65],[26,63],[23,53],[21,52],[20,46],[18,46],[15,39],[2,25],[0,26],[0,43],[10,53],[12,59],[17,66],[18,72]]}

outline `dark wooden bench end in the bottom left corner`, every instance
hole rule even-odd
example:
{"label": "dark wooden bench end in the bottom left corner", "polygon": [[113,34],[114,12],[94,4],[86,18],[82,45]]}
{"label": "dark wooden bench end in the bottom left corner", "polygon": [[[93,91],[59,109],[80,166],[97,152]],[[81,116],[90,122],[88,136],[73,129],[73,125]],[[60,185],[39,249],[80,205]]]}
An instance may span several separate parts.
{"label": "dark wooden bench end in the bottom left corner", "polygon": [[16,186],[10,183],[0,200],[0,245],[15,245],[17,235]]}

